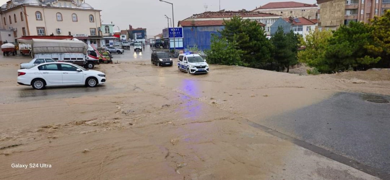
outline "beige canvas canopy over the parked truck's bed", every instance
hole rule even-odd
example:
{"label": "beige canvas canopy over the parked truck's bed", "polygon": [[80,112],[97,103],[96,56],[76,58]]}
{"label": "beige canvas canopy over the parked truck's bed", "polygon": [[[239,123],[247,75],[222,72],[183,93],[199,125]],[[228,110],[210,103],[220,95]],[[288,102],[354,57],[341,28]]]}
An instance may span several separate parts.
{"label": "beige canvas canopy over the parked truck's bed", "polygon": [[36,53],[83,53],[87,54],[88,45],[83,41],[32,39],[32,54]]}

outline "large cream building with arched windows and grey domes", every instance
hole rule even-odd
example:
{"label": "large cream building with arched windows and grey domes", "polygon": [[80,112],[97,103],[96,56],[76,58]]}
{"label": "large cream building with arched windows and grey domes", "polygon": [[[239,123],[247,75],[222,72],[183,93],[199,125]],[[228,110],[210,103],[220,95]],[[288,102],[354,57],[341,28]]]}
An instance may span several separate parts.
{"label": "large cream building with arched windows and grey domes", "polygon": [[83,0],[10,0],[1,7],[1,29],[14,37],[73,36],[101,46],[100,10]]}

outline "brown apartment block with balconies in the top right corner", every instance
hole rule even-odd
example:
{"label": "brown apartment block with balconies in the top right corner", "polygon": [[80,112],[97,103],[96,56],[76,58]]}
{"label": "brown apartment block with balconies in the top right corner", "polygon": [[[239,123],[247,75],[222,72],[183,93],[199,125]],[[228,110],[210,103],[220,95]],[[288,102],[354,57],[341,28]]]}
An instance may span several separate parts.
{"label": "brown apartment block with balconies in the top right corner", "polygon": [[351,21],[369,23],[390,9],[390,0],[317,0],[319,29],[337,29]]}

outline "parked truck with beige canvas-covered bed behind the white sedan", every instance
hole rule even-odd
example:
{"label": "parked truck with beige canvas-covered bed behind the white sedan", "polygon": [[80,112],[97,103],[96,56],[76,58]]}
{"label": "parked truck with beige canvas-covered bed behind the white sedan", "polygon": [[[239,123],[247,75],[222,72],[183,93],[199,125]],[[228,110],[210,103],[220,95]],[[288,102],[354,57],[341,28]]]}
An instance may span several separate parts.
{"label": "parked truck with beige canvas-covered bed behind the white sedan", "polygon": [[60,62],[70,62],[93,69],[99,63],[97,59],[88,58],[88,45],[83,41],[32,39],[34,58],[51,58]]}

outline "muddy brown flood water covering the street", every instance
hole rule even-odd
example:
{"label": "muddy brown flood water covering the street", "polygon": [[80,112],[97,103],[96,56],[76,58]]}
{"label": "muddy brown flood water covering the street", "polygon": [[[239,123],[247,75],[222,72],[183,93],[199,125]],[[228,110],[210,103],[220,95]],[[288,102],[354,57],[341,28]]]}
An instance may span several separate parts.
{"label": "muddy brown flood water covering the street", "polygon": [[0,57],[0,179],[379,179],[251,123],[339,92],[388,95],[389,80],[213,64],[189,75],[142,53],[97,65],[105,85],[41,91],[16,83],[30,58]]}

